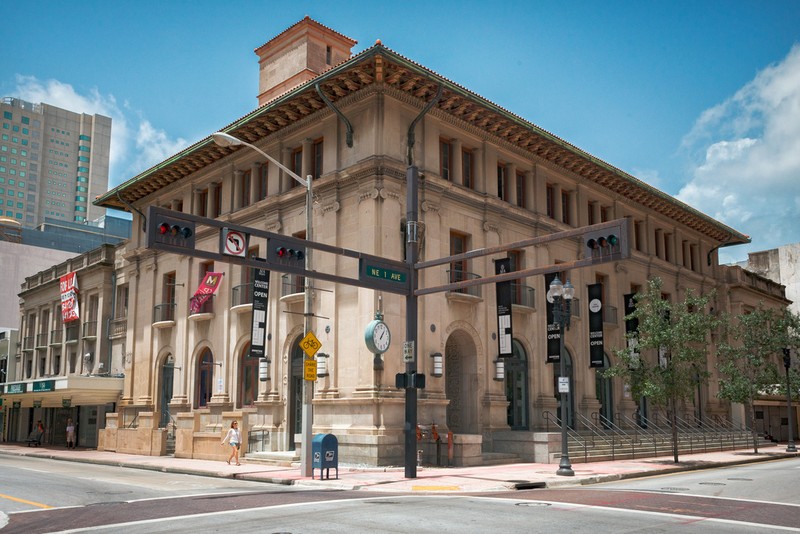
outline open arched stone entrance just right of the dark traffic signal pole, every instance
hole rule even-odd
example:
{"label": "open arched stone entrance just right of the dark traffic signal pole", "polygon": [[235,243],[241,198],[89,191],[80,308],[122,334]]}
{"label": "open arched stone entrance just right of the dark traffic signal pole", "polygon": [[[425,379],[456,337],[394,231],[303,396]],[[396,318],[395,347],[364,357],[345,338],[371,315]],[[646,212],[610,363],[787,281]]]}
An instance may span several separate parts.
{"label": "open arched stone entrance just right of the dark traffic signal pole", "polygon": [[472,338],[456,330],[445,344],[445,395],[447,427],[452,432],[478,432],[478,366],[477,350]]}

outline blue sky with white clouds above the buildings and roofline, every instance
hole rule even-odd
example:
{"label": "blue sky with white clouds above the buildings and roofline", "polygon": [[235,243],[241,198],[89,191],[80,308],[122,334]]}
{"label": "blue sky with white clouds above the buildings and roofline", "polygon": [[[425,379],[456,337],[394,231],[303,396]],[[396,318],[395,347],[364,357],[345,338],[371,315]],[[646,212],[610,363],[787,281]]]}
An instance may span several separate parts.
{"label": "blue sky with white clouds above the buildings and roofline", "polygon": [[110,116],[115,187],[254,110],[254,49],[306,15],[752,238],[723,263],[800,242],[797,0],[29,0],[0,96]]}

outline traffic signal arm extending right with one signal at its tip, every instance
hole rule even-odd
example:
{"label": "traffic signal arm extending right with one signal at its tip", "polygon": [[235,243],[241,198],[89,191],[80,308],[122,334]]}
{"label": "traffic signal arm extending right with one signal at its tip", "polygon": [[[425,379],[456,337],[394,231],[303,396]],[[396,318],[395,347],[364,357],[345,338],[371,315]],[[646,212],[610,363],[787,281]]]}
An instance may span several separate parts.
{"label": "traffic signal arm extending right with one signal at its tip", "polygon": [[[580,267],[587,267],[589,265],[597,265],[599,263],[625,259],[630,257],[628,224],[629,224],[628,219],[615,219],[613,221],[608,221],[604,223],[592,224],[590,226],[582,226],[580,228],[571,228],[569,230],[564,230],[562,232],[555,232],[552,234],[547,234],[539,237],[532,237],[530,239],[517,241],[516,243],[498,245],[496,247],[489,247],[489,248],[479,248],[475,250],[470,250],[468,252],[464,252],[463,254],[447,256],[446,258],[439,258],[436,260],[419,262],[414,265],[414,268],[416,270],[429,269],[431,267],[437,267],[439,265],[447,265],[454,261],[480,258],[483,256],[490,256],[493,254],[508,252],[509,250],[519,250],[521,248],[532,247],[534,245],[541,245],[544,243],[550,243],[552,241],[559,241],[563,239],[572,239],[572,238],[581,239],[581,247],[582,247],[581,250],[585,255],[584,258],[571,262],[545,265],[541,267],[534,267],[531,269],[524,269],[521,271],[512,271],[505,274],[496,274],[492,276],[485,276],[471,280],[464,280],[462,282],[453,282],[451,284],[444,284],[441,286],[417,289],[414,292],[414,294],[420,296],[420,295],[429,295],[431,293],[441,293],[443,291],[454,291],[466,287],[478,286],[483,284],[494,284],[497,282],[507,282],[509,280],[518,280],[520,278],[526,278],[528,276],[558,273],[565,270],[577,269]],[[608,239],[608,237],[610,236],[614,236],[617,239],[617,243],[616,245],[614,245],[615,249],[613,253],[603,254],[600,256],[598,256],[597,254],[592,255],[591,249],[589,248],[589,240],[598,239],[598,237],[600,236],[607,236],[606,239]]]}

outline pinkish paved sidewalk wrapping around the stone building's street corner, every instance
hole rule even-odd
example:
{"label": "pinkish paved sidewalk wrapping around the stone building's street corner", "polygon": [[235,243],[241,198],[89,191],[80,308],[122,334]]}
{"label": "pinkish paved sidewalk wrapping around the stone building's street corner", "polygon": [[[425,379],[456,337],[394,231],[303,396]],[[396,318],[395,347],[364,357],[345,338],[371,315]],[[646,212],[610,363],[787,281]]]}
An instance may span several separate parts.
{"label": "pinkish paved sidewalk wrapping around the stone building's street corner", "polygon": [[785,451],[786,445],[778,444],[775,447],[759,449],[758,454],[753,454],[752,449],[684,454],[679,456],[678,464],[672,461],[671,455],[636,460],[573,463],[572,469],[575,472],[573,477],[556,475],[557,464],[520,463],[478,467],[418,467],[417,478],[413,479],[405,478],[403,467],[340,466],[338,479],[335,479],[336,471],[331,469],[331,478],[320,480],[319,469],[314,470],[314,476],[317,478],[311,479],[310,477],[301,477],[299,467],[279,467],[254,462],[248,464],[246,458],[243,460],[244,463],[237,467],[212,460],[118,454],[93,449],[26,447],[24,444],[0,443],[0,455],[32,456],[305,487],[395,493],[480,493],[585,485],[798,456],[798,453]]}

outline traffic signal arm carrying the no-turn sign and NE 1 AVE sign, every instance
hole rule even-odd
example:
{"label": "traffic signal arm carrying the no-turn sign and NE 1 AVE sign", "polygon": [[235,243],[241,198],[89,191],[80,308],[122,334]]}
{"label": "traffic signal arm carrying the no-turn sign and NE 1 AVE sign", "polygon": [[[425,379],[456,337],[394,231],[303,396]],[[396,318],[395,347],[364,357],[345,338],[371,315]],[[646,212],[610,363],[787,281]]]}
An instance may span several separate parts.
{"label": "traffic signal arm carrying the no-turn sign and NE 1 AVE sign", "polygon": [[[179,246],[171,239],[161,239],[160,227],[162,223],[167,222],[172,225],[180,227],[192,228],[193,234],[191,236],[192,246]],[[276,272],[285,272],[306,276],[316,280],[327,280],[335,283],[342,283],[347,285],[354,285],[357,287],[365,287],[370,289],[380,289],[389,293],[397,293],[400,295],[408,295],[410,285],[408,280],[410,276],[409,266],[402,261],[390,260],[380,256],[371,254],[364,254],[355,250],[349,250],[342,247],[336,247],[325,243],[318,243],[314,241],[306,241],[293,236],[276,234],[274,232],[267,232],[258,228],[251,228],[249,226],[242,226],[233,224],[230,221],[222,221],[217,219],[209,219],[207,217],[200,217],[199,215],[192,215],[191,213],[182,213],[173,211],[158,206],[149,206],[147,208],[147,226],[145,228],[145,246],[149,249],[162,250],[165,252],[173,252],[175,254],[183,254],[186,256],[193,256],[196,258],[204,258],[224,263],[233,263],[236,265],[244,265],[256,269],[270,269]],[[222,232],[223,228],[228,230],[235,230],[246,234],[250,239],[250,245],[254,244],[253,238],[262,238],[265,241],[262,243],[260,250],[267,251],[267,258],[250,258],[250,257],[236,257],[221,254],[220,252],[212,252],[210,250],[202,250],[194,247],[194,238],[199,233],[205,233],[206,229],[211,229]],[[170,230],[171,231],[171,230]],[[210,234],[209,234],[210,235]],[[211,240],[213,242],[213,239]],[[278,256],[278,248],[285,248],[287,256]],[[288,255],[289,250],[294,251],[292,256]],[[316,250],[337,256],[344,256],[352,258],[359,262],[356,270],[363,270],[363,266],[377,265],[386,269],[404,274],[403,282],[386,282],[380,279],[360,279],[350,278],[345,276],[338,276],[320,271],[307,271],[305,269],[303,258],[298,255],[308,253],[309,250]]]}

